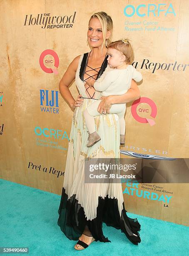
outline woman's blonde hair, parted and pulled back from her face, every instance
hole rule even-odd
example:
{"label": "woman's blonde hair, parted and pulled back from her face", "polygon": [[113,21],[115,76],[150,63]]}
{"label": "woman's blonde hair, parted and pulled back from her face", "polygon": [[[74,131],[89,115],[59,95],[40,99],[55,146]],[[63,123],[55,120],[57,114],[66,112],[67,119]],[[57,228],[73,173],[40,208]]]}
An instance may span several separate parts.
{"label": "woman's blonde hair, parted and pulled back from her face", "polygon": [[[92,18],[98,18],[102,26],[102,35],[103,35],[103,44],[101,46],[101,51],[102,51],[104,46],[107,47],[107,45],[112,42],[113,21],[112,21],[112,18],[109,15],[107,15],[107,13],[104,13],[104,12],[94,13],[90,17],[90,20]],[[89,20],[89,23],[90,23],[90,20]],[[107,31],[110,31],[110,36],[108,39],[106,39]],[[88,44],[88,40],[87,40],[87,44]]]}

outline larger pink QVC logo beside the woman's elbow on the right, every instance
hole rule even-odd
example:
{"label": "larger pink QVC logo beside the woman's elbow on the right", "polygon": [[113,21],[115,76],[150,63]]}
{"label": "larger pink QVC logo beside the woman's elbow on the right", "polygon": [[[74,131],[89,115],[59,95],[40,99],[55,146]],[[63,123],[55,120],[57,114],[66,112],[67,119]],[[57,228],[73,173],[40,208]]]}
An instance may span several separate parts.
{"label": "larger pink QVC logo beside the woman's elbow on the right", "polygon": [[[148,107],[139,107],[141,103],[147,103]],[[157,106],[153,100],[147,97],[141,97],[133,102],[131,106],[131,113],[134,119],[139,123],[149,123],[150,126],[153,126],[155,121],[152,118],[155,118],[157,115]],[[145,117],[145,115],[147,117]]]}

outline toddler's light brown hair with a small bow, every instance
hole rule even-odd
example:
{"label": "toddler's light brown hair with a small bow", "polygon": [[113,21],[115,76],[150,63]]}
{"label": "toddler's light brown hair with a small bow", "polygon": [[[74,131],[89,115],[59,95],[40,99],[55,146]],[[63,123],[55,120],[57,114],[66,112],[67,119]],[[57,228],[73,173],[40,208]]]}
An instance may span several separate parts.
{"label": "toddler's light brown hair with a small bow", "polygon": [[129,39],[120,39],[118,41],[114,41],[107,46],[107,49],[112,48],[116,49],[117,51],[121,51],[126,57],[126,63],[132,64],[134,61],[134,50],[129,41]]}

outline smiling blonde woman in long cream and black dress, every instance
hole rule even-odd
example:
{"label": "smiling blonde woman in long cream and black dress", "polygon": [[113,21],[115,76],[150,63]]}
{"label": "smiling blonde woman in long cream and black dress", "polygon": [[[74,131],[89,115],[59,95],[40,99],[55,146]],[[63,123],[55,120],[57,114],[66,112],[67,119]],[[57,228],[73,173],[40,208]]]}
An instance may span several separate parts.
{"label": "smiling blonde woman in long cream and black dress", "polygon": [[[87,79],[102,79],[107,66],[107,44],[112,41],[113,23],[104,12],[94,13],[89,21],[87,40],[92,50],[77,56],[63,75],[59,88],[62,97],[74,110],[67,152],[65,178],[58,210],[58,225],[70,240],[78,240],[76,250],[85,249],[93,241],[110,242],[102,232],[102,222],[121,229],[134,244],[140,243],[137,219],[127,217],[121,183],[85,183],[86,158],[120,158],[119,118],[116,114],[95,117],[101,140],[87,148],[88,133],[83,111],[100,98],[100,92],[87,85]],[[80,95],[75,101],[69,85],[75,79]],[[103,97],[99,113],[108,113],[112,104],[139,98],[137,84],[132,80],[125,95]],[[112,139],[109,139],[112,138]]]}

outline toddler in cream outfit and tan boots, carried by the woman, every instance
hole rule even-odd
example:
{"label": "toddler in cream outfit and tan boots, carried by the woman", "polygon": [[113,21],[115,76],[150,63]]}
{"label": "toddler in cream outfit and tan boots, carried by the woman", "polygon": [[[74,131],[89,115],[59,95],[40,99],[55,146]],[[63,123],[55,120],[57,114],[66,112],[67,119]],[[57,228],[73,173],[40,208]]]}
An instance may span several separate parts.
{"label": "toddler in cream outfit and tan boots, carried by the woman", "polygon": [[[97,82],[94,79],[87,79],[87,84],[95,90],[102,92],[102,96],[123,95],[129,90],[131,80],[136,82],[142,80],[142,74],[131,64],[134,61],[134,51],[128,39],[112,42],[107,46],[108,64],[112,68],[104,74],[103,80]],[[85,123],[87,125],[89,138],[87,147],[97,143],[101,138],[96,132],[94,116],[100,115],[97,111],[101,100],[97,100],[89,105],[84,111]],[[119,116],[120,144],[125,143],[125,120],[124,113],[126,104],[114,104],[109,113],[116,113]]]}

